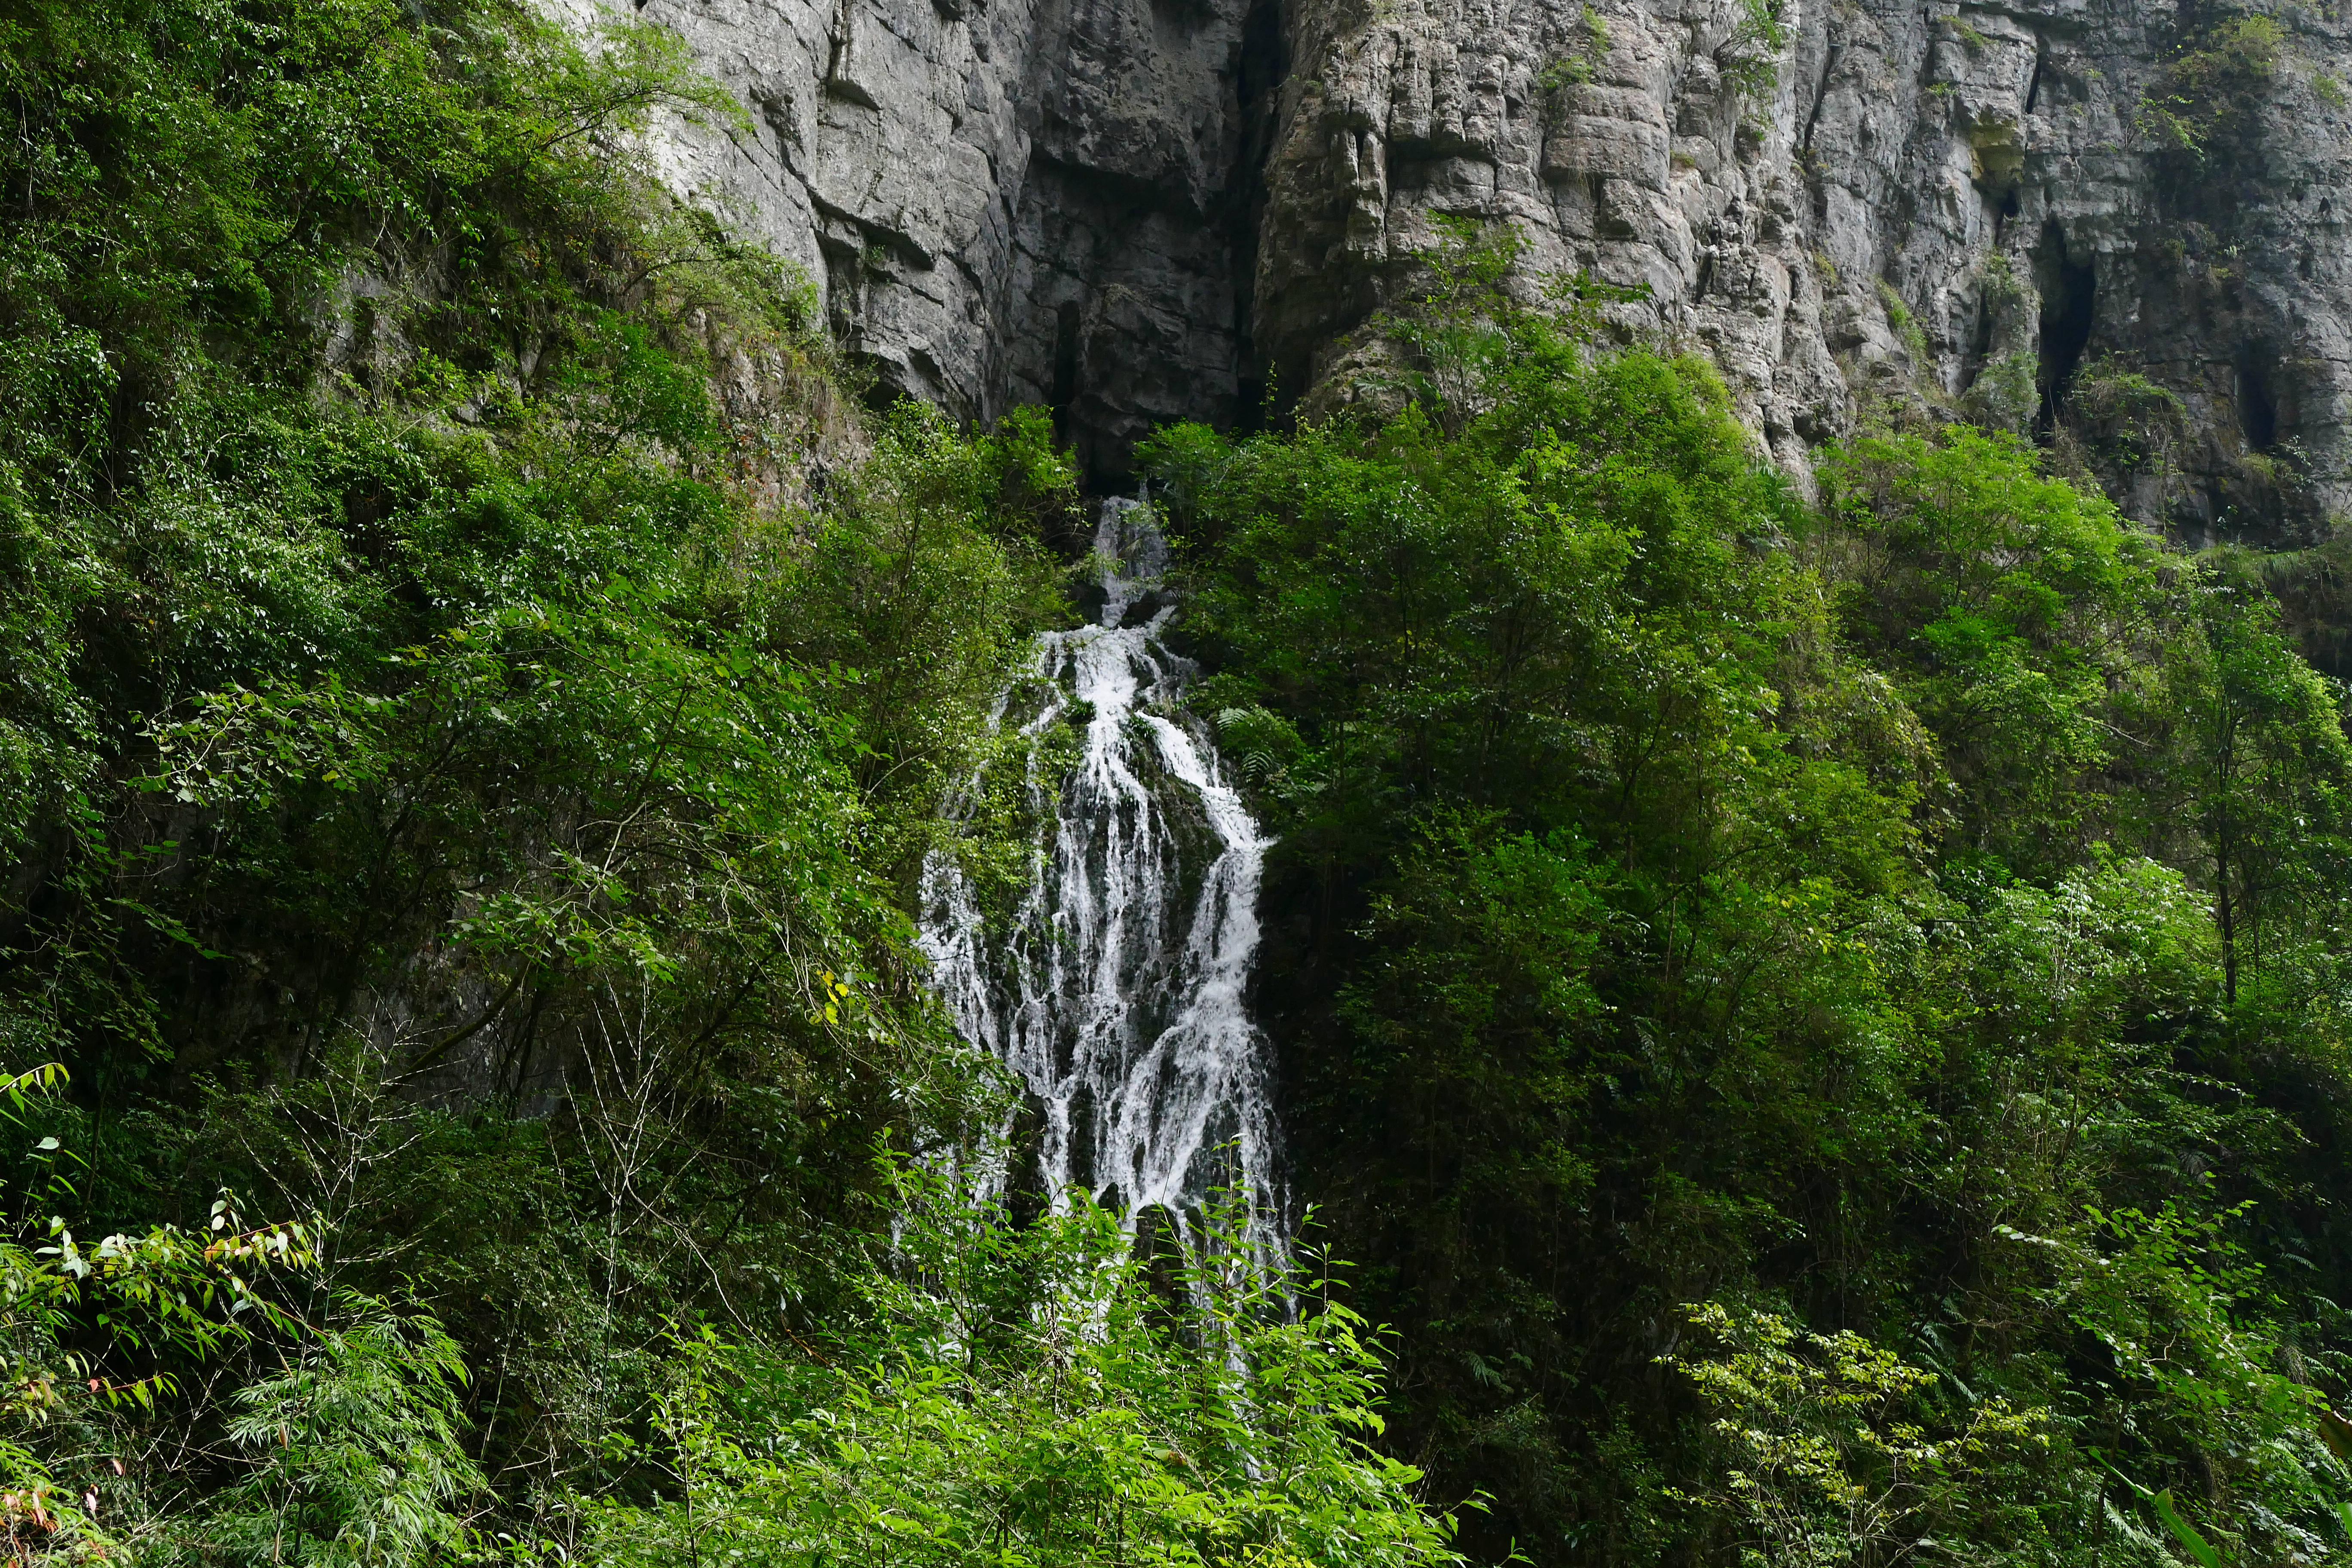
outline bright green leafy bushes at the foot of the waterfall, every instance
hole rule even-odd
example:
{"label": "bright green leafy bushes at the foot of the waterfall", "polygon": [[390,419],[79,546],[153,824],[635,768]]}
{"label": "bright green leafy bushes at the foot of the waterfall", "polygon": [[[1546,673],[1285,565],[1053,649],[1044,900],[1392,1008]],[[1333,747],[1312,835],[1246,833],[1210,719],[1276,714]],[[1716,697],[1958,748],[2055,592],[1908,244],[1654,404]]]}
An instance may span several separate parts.
{"label": "bright green leafy bushes at the foot of the waterfall", "polygon": [[896,1213],[837,1359],[680,1345],[668,1500],[593,1509],[593,1561],[1461,1561],[1418,1472],[1367,1446],[1364,1321],[1291,1309],[1319,1281],[1214,1255],[1155,1279],[1082,1197],[1014,1229],[906,1175]]}

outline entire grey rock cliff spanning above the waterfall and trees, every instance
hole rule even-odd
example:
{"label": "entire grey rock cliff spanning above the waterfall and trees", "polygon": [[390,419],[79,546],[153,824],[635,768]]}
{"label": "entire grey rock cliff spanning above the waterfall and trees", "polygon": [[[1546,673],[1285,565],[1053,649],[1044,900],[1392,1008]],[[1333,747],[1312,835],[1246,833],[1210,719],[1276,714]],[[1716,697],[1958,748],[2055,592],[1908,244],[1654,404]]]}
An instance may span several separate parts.
{"label": "entire grey rock cliff spanning above the waterfall and trees", "polygon": [[[2352,38],[2192,0],[649,0],[753,110],[680,188],[950,411],[1098,475],[1298,397],[1446,214],[1649,284],[1795,475],[2039,430],[2190,536],[2352,510]],[[2251,16],[2251,19],[2249,19]],[[1329,390],[1329,388],[1327,388]]]}

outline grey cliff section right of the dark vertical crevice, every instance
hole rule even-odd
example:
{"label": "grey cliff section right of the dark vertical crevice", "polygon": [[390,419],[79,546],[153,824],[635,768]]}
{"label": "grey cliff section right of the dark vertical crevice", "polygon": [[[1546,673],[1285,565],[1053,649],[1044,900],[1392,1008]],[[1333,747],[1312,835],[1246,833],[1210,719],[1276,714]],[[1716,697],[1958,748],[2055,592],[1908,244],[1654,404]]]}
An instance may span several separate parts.
{"label": "grey cliff section right of the dark vertical crevice", "polygon": [[2051,435],[2056,388],[2060,442],[2143,517],[2284,543],[2352,501],[2340,28],[2164,0],[1783,21],[1776,49],[1740,0],[1308,0],[1261,348],[1312,381],[1432,216],[1505,219],[1534,268],[1649,284],[1646,324],[1792,473],[1872,404]]}

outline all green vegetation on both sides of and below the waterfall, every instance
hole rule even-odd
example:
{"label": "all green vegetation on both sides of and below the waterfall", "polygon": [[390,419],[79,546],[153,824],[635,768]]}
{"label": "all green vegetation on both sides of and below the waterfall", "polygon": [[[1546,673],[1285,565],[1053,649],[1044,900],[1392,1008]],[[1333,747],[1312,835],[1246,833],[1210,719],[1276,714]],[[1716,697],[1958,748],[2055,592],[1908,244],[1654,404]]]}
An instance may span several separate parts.
{"label": "all green vegetation on both sides of and below the waterfall", "polygon": [[1806,501],[1456,237],[1369,411],[1145,454],[1357,1262],[1138,1260],[922,1159],[1049,421],[861,411],[637,167],[736,113],[659,31],[0,28],[12,1559],[2352,1554],[2352,745],[2263,562],[1969,428]]}

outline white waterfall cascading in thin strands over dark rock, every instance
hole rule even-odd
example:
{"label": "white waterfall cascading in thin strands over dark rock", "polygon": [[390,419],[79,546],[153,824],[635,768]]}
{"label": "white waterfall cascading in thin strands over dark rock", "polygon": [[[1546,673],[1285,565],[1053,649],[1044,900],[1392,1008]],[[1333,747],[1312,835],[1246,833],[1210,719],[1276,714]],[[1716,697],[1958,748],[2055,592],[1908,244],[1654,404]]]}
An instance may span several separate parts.
{"label": "white waterfall cascading in thin strands over dark rock", "polygon": [[[1272,1065],[1242,1001],[1268,842],[1176,708],[1192,665],[1160,639],[1174,609],[1150,508],[1105,501],[1094,548],[1101,616],[1040,637],[1000,708],[1000,724],[1028,715],[1028,893],[990,929],[971,882],[934,856],[922,947],[957,1032],[1028,1088],[1047,1192],[1084,1187],[1129,1222],[1162,1206],[1192,1232],[1211,1192],[1240,1190],[1247,1248],[1275,1260]],[[1063,773],[1049,741],[1075,724]]]}

